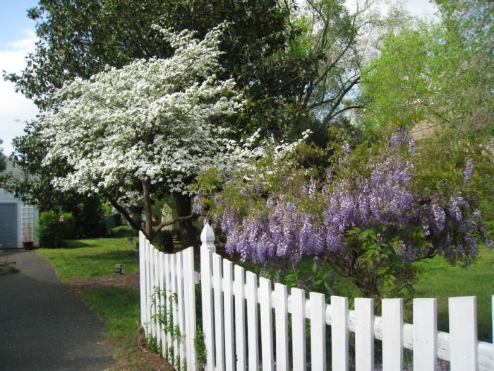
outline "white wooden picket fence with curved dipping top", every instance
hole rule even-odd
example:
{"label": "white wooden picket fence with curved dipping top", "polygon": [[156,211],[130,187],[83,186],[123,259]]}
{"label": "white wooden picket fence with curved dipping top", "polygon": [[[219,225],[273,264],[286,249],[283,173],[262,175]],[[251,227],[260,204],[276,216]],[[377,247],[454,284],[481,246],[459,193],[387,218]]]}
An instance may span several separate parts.
{"label": "white wooden picket fence with curved dipping top", "polygon": [[[162,343],[163,355],[176,367],[181,365],[181,370],[201,366],[194,348],[196,321],[201,320],[195,312],[199,281],[207,371],[346,371],[349,367],[397,371],[405,367],[404,348],[413,352],[413,370],[437,370],[438,360],[448,361],[452,371],[494,370],[494,345],[477,338],[475,297],[449,299],[447,334],[437,330],[436,299],[413,300],[413,325],[403,323],[402,299],[383,299],[382,317],[374,315],[372,299],[356,298],[354,310],[349,310],[347,298],[338,296],[332,296],[327,305],[320,293],[308,293],[307,299],[304,290],[289,290],[279,283],[272,290],[270,280],[223,259],[216,254],[209,225],[201,240],[200,275],[194,271],[192,247],[164,254],[142,233],[139,240],[141,324],[148,336]],[[157,289],[165,294],[153,301]],[[180,338],[153,319],[159,307],[173,313]],[[306,331],[306,320],[310,331]],[[352,347],[350,333],[354,333]],[[326,336],[331,338],[331,349],[326,349]],[[382,342],[379,362],[375,362],[375,339]]]}

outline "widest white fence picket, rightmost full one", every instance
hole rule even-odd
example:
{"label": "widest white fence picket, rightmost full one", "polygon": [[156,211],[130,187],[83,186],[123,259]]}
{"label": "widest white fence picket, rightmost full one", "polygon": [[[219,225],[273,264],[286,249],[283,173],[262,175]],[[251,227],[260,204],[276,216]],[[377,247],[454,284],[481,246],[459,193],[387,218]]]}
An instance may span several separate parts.
{"label": "widest white fence picket, rightmost full one", "polygon": [[450,298],[450,369],[477,368],[477,304],[474,296]]}

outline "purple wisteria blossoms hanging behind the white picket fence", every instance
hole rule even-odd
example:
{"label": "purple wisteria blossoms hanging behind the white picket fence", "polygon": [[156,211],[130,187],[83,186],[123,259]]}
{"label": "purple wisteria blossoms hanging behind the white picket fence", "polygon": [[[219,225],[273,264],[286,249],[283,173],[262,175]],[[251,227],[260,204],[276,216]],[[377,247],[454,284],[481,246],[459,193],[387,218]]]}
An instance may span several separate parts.
{"label": "purple wisteria blossoms hanging behind the white picket fence", "polygon": [[[259,185],[246,183],[239,193],[255,200],[251,208],[216,196],[213,218],[227,235],[227,251],[258,263],[335,257],[333,261],[351,266],[363,254],[352,231],[371,228],[378,231],[377,243],[395,242],[391,245],[403,264],[435,254],[451,264],[471,264],[478,255],[478,237],[492,247],[481,212],[460,192],[444,200],[414,191],[414,151],[414,141],[399,133],[387,141],[386,155],[368,159],[360,176],[344,175],[344,157],[339,161],[342,176],[328,172],[325,184],[293,184],[292,194],[263,194]],[[342,153],[347,156],[349,148],[344,146]],[[465,183],[473,168],[469,160]]]}

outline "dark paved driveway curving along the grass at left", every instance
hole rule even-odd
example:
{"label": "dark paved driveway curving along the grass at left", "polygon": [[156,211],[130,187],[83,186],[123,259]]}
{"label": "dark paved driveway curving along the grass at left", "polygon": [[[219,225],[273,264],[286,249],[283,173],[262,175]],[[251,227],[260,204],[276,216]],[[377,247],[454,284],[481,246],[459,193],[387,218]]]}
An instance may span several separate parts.
{"label": "dark paved driveway curving along the grass at left", "polygon": [[0,370],[107,370],[114,347],[92,310],[36,252],[4,250],[20,271],[0,276]]}

